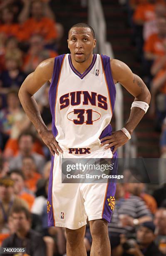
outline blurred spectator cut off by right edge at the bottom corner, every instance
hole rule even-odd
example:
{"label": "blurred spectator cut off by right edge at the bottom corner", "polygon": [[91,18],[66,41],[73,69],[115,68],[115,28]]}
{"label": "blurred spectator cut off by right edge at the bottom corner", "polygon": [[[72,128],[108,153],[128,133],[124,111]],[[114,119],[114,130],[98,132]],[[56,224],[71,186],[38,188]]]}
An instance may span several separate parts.
{"label": "blurred spectator cut off by right edge at the bottom corner", "polygon": [[156,244],[160,251],[166,255],[166,208],[159,208],[154,215],[156,225]]}

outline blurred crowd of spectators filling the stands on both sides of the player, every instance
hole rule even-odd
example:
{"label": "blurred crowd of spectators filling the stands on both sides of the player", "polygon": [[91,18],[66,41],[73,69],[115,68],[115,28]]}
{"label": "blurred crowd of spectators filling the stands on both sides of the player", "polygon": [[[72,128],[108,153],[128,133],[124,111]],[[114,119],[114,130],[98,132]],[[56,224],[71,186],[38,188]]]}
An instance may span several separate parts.
{"label": "blurred crowd of spectators filling the stands on both sides of the player", "polygon": [[[26,76],[58,54],[63,26],[49,2],[0,1],[0,245],[26,247],[26,256],[66,253],[65,228],[47,226],[50,151],[18,98]],[[128,11],[132,40],[152,93],[151,115],[155,112],[161,123],[161,154],[166,154],[166,3],[132,0]],[[49,86],[46,83],[35,99],[51,128]],[[112,256],[166,255],[166,185],[151,195],[148,191],[142,183],[117,184],[109,224]],[[89,223],[84,243],[90,255]]]}

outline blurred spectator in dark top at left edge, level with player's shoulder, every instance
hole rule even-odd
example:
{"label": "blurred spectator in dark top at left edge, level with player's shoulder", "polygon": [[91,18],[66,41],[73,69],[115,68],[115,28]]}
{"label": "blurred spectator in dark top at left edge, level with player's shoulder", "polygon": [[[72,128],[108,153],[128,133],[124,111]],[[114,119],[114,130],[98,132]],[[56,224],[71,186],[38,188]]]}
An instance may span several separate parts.
{"label": "blurred spectator in dark top at left edge, level with player's shoulder", "polygon": [[6,70],[0,75],[1,93],[7,93],[11,87],[19,89],[26,78],[25,73],[20,70],[21,59],[17,59],[17,57],[17,55],[7,56],[5,59]]}

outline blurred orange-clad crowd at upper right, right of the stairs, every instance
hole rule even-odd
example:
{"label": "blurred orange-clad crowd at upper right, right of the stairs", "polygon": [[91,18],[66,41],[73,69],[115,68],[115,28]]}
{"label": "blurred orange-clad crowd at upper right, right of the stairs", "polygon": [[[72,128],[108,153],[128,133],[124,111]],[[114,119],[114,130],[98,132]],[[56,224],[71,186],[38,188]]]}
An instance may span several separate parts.
{"label": "blurred orange-clad crowd at upper right, right of the stairs", "polygon": [[166,0],[127,0],[125,4],[131,44],[151,92],[149,116],[161,133],[160,154],[166,158]]}

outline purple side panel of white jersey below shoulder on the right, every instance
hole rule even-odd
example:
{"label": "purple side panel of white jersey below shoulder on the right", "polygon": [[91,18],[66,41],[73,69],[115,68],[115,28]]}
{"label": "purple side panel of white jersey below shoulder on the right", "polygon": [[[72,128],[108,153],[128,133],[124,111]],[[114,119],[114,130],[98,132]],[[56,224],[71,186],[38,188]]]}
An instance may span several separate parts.
{"label": "purple side panel of white jersey below shoulder on the right", "polygon": [[108,88],[109,88],[112,112],[114,112],[116,88],[115,88],[114,80],[113,80],[112,73],[111,73],[110,58],[106,55],[101,55],[101,57],[103,60],[104,71],[105,71],[106,80],[107,80],[107,84],[108,84]]}

